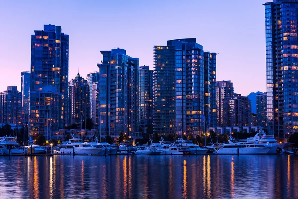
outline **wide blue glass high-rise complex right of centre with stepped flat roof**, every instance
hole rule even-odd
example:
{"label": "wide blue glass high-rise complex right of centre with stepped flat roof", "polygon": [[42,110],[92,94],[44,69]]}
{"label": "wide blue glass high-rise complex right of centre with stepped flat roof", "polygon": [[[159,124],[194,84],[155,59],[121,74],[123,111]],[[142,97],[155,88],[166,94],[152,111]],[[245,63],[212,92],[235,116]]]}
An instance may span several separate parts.
{"label": "wide blue glass high-rise complex right of centre with stepped flat roof", "polygon": [[[154,46],[154,133],[197,135],[205,131],[205,120],[215,125],[216,53],[206,51],[205,55],[204,60],[203,46],[195,38]],[[211,112],[204,114],[204,104]]]}

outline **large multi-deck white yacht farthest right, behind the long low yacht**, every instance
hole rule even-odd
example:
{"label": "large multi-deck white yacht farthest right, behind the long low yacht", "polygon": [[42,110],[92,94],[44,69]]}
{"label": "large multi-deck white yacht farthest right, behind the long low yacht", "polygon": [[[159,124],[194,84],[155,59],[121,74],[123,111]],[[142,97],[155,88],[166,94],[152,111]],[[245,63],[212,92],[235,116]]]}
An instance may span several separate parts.
{"label": "large multi-deck white yacht farthest right, behind the long low yacht", "polygon": [[266,135],[266,133],[261,129],[254,137],[247,138],[247,142],[252,142],[254,144],[263,144],[267,146],[272,146],[268,154],[281,153],[282,149],[292,143],[279,143],[274,135]]}

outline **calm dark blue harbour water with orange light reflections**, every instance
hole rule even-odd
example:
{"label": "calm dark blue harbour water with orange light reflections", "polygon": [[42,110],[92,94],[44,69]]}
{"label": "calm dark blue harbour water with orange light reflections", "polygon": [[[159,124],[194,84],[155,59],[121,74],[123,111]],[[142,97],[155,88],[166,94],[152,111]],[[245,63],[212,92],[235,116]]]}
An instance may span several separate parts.
{"label": "calm dark blue harbour water with orange light reflections", "polygon": [[298,156],[2,156],[0,198],[298,199]]}

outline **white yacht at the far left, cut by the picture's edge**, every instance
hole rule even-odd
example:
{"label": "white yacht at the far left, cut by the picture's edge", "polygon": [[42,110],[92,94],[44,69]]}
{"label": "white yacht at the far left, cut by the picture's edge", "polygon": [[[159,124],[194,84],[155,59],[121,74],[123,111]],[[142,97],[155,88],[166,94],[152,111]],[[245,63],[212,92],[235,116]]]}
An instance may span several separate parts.
{"label": "white yacht at the far left, cut by the picture's edge", "polygon": [[6,155],[21,155],[24,153],[20,149],[20,144],[16,142],[16,137],[0,137],[0,146],[3,147]]}

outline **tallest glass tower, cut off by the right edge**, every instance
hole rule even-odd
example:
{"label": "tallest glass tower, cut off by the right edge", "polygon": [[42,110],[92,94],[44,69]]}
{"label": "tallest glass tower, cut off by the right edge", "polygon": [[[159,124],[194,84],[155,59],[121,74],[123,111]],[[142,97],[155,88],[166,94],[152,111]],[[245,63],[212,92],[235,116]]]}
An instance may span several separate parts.
{"label": "tallest glass tower, cut off by the right edge", "polygon": [[265,3],[268,132],[298,132],[298,0]]}

